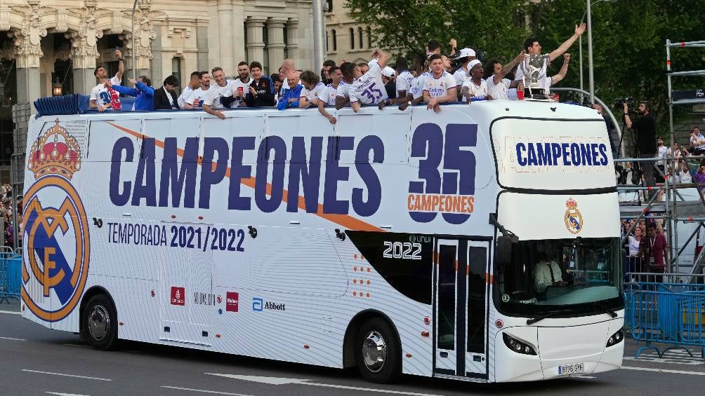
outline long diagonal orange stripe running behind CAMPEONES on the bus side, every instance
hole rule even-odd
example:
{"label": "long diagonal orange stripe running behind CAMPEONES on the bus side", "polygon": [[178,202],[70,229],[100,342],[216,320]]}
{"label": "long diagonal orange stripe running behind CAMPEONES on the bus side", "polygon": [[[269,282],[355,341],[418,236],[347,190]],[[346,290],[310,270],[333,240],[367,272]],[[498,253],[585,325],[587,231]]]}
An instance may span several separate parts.
{"label": "long diagonal orange stripe running behind CAMPEONES on the bus side", "polygon": [[[125,127],[121,127],[120,125],[113,124],[112,122],[106,121],[107,124],[112,125],[113,127],[116,127],[117,129],[120,129],[122,132],[125,132],[126,134],[130,134],[132,136],[137,137],[137,139],[146,139],[149,138],[149,136],[145,134],[140,134],[139,132],[135,132],[132,129],[128,129]],[[159,147],[159,148],[164,148],[164,141],[161,141],[159,139],[154,139],[154,144]],[[176,154],[179,157],[183,158],[184,151],[183,148],[177,148],[176,149]],[[215,170],[216,167],[216,162],[211,162],[212,169]],[[198,161],[198,165],[202,165],[202,161]],[[225,171],[225,177],[230,179],[230,167],[228,167]],[[240,184],[244,184],[245,186],[248,186],[252,189],[255,188],[255,178],[254,177],[247,177],[240,179]],[[271,183],[266,184],[266,194],[268,196],[271,196]],[[288,202],[289,200],[289,194],[286,189],[283,190],[283,195],[282,195],[282,200],[283,202]],[[306,201],[303,196],[298,196],[298,203],[297,206],[299,209],[306,210]],[[350,215],[336,215],[333,213],[324,213],[323,212],[323,205],[318,204],[317,210],[313,215],[317,215],[318,217],[321,217],[322,219],[326,219],[329,222],[333,222],[336,224],[339,224],[346,229],[352,229],[352,230],[357,230],[357,231],[381,231],[381,232],[386,232],[384,229],[381,229],[377,226],[374,226],[372,224],[369,224],[367,222],[362,221],[361,219],[357,219],[356,217],[350,216]]]}

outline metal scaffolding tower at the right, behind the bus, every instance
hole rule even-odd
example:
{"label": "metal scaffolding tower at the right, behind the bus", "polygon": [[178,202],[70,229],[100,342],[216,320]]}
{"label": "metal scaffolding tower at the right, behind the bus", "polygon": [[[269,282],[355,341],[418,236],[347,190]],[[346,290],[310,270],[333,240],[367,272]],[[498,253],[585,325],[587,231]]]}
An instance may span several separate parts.
{"label": "metal scaffolding tower at the right, behind the bus", "polygon": [[[670,63],[670,53],[673,49],[686,49],[693,47],[705,47],[705,41],[680,41],[672,42],[670,39],[666,39],[666,78],[668,79],[668,125],[670,132],[670,147],[671,152],[674,153],[674,143],[677,143],[675,136],[675,125],[673,122],[673,107],[674,106],[692,106],[697,104],[705,104],[705,85],[704,89],[692,89],[687,91],[674,91],[673,90],[673,77],[684,77],[684,76],[702,76],[705,77],[705,70],[690,70],[690,71],[680,71],[673,72],[671,70]],[[623,236],[623,243],[627,240],[627,236],[631,234],[635,226],[639,223],[640,219],[644,219],[646,215],[648,218],[660,218],[663,219],[664,231],[666,233],[666,238],[670,248],[670,260],[667,264],[668,272],[674,274],[682,274],[682,270],[685,270],[687,274],[703,274],[704,264],[705,264],[705,249],[696,250],[693,252],[693,262],[692,267],[689,269],[681,267],[680,257],[689,243],[695,238],[696,241],[701,239],[701,235],[705,236],[705,199],[703,195],[699,193],[700,189],[705,188],[705,184],[698,184],[693,177],[692,183],[689,184],[675,184],[673,179],[673,172],[678,172],[676,165],[679,161],[683,161],[687,164],[688,171],[694,174],[693,169],[697,170],[697,166],[691,163],[691,160],[697,160],[698,162],[705,159],[705,155],[700,156],[689,156],[685,157],[685,153],[682,152],[680,159],[676,158],[675,155],[670,155],[668,158],[620,158],[615,160],[615,162],[642,162],[645,166],[655,165],[656,160],[663,160],[664,170],[666,174],[663,174],[658,167],[655,167],[655,171],[661,174],[661,177],[665,179],[662,184],[657,184],[654,188],[644,187],[644,186],[627,186],[619,185],[618,191],[639,191],[640,193],[653,194],[650,199],[646,198],[642,203],[641,200],[638,201],[637,205],[624,205],[620,203],[620,215],[624,218],[635,218],[637,221],[632,225],[632,228]],[[670,170],[670,171],[669,171]],[[682,194],[679,193],[681,189],[692,189],[695,188],[697,193],[697,198],[687,200],[684,199]],[[658,202],[656,199],[659,193],[663,192],[665,200],[663,202]],[[697,224],[694,231],[687,236],[686,242],[683,244],[682,248],[679,248],[679,225],[685,223]],[[680,276],[678,279],[682,281],[689,282],[694,281],[696,277],[683,277]]]}

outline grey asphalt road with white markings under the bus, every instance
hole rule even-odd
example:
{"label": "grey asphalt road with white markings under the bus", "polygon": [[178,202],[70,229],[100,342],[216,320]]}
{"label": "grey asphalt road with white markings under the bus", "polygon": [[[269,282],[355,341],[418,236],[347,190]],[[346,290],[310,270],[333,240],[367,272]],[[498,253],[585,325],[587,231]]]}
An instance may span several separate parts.
{"label": "grey asphalt road with white markings under the bus", "polygon": [[[658,359],[626,358],[624,369],[538,383],[477,384],[403,376],[362,381],[355,369],[272,362],[213,352],[123,343],[92,350],[72,333],[22,319],[0,304],[0,395],[698,395],[705,362],[675,351]],[[627,343],[628,357],[635,345]],[[219,375],[214,375],[219,374]]]}

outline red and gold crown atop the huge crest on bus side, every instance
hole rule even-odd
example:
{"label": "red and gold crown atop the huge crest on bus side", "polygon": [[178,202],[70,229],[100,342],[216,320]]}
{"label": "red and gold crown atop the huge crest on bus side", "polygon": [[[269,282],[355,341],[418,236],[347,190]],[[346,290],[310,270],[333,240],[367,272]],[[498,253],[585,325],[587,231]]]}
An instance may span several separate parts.
{"label": "red and gold crown atop the huge crest on bus side", "polygon": [[35,173],[35,179],[45,174],[60,174],[71,180],[73,174],[80,170],[81,148],[78,141],[59,126],[59,118],[54,122],[56,125],[32,145],[27,169]]}

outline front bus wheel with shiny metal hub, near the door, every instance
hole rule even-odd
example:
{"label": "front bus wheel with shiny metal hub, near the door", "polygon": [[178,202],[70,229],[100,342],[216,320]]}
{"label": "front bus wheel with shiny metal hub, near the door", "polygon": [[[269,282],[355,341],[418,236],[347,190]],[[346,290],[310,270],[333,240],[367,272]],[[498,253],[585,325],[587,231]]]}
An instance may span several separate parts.
{"label": "front bus wheel with shiny metal hub, near the door", "polygon": [[365,381],[391,383],[401,375],[401,347],[388,321],[367,319],[355,342],[357,369]]}

